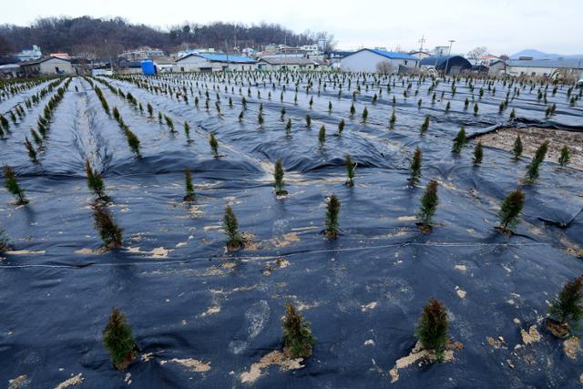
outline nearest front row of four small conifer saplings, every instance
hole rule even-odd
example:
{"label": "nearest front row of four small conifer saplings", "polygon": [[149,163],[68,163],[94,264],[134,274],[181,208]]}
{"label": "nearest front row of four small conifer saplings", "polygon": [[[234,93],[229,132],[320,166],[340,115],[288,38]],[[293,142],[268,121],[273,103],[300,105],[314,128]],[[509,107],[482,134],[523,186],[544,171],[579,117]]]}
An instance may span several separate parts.
{"label": "nearest front row of four small conifer saplings", "polygon": [[[558,338],[566,338],[571,328],[577,328],[583,318],[583,279],[576,278],[567,282],[563,290],[551,302],[547,317],[547,329]],[[287,302],[283,321],[283,353],[288,358],[308,358],[316,343],[307,322],[295,307]],[[424,306],[419,322],[416,325],[415,336],[423,349],[429,352],[428,359],[442,361],[444,352],[450,344],[448,334],[449,322],[444,303],[431,299]],[[118,308],[113,308],[106,328],[103,330],[103,343],[111,355],[111,361],[119,370],[125,370],[138,355],[138,344],[134,339],[131,327]]]}

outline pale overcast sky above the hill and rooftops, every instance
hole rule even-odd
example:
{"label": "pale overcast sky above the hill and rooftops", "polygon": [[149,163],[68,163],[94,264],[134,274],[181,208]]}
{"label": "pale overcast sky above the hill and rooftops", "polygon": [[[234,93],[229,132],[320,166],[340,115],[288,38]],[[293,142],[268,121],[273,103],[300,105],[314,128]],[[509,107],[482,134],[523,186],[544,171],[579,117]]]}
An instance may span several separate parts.
{"label": "pale overcast sky above the hill and rooftops", "polygon": [[493,54],[524,48],[583,54],[583,0],[19,0],[3,7],[0,23],[28,25],[40,16],[122,16],[167,27],[185,21],[273,22],[296,32],[328,31],[340,48],[446,46]]}

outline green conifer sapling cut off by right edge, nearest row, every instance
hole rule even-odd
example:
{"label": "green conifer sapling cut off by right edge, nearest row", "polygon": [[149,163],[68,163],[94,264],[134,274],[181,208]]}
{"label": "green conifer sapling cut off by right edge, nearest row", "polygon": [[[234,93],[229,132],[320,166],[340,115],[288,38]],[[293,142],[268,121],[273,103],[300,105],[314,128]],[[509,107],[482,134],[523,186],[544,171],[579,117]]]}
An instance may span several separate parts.
{"label": "green conifer sapling cut off by right edge, nearest row", "polygon": [[565,283],[563,290],[551,302],[548,312],[560,323],[572,322],[578,328],[578,322],[583,319],[583,279],[577,277],[573,282]]}

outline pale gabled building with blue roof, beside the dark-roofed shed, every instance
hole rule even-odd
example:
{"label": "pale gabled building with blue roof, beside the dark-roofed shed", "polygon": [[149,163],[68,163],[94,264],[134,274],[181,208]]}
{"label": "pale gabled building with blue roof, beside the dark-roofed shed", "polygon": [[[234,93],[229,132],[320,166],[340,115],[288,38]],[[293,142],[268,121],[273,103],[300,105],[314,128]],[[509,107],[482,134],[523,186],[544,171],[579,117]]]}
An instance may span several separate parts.
{"label": "pale gabled building with blue roof, beside the dark-roofed shed", "polygon": [[398,74],[417,65],[419,58],[376,48],[363,48],[340,60],[344,72]]}

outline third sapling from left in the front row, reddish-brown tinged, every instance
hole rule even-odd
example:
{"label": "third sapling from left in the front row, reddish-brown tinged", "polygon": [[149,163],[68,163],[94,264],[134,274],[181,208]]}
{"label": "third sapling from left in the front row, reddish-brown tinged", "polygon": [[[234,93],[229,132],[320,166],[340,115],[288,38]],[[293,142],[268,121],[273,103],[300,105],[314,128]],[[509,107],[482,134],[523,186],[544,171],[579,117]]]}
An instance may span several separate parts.
{"label": "third sapling from left in the front row, reddish-brown tinged", "polygon": [[442,302],[432,298],[423,308],[415,334],[424,350],[434,352],[437,359],[442,360],[449,341],[448,331],[447,309]]}

